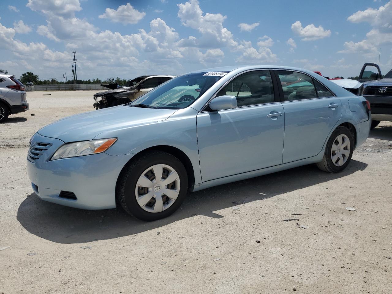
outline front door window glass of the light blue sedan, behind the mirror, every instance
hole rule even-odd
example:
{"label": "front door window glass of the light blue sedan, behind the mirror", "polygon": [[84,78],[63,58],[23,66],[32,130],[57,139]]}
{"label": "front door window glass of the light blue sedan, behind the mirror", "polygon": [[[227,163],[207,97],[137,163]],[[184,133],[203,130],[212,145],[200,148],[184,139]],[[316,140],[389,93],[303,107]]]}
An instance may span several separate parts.
{"label": "front door window glass of the light blue sedan, behind the mirror", "polygon": [[275,102],[269,70],[241,74],[229,82],[216,96],[236,96],[237,106]]}

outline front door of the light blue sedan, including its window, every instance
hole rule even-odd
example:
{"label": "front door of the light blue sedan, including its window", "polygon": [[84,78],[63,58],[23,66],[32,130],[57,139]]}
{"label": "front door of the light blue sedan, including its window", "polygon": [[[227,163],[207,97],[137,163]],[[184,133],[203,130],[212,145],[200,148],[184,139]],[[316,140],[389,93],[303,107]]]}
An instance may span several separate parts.
{"label": "front door of the light blue sedan, including its window", "polygon": [[269,70],[251,71],[217,94],[236,96],[236,109],[206,109],[198,114],[203,181],[282,163],[284,113],[277,92]]}

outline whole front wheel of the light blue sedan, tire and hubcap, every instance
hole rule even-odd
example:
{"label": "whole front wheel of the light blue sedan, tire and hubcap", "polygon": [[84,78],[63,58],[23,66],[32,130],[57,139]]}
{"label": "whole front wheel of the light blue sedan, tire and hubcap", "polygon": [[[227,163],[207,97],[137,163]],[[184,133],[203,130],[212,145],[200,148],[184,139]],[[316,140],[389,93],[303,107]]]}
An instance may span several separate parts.
{"label": "whole front wheel of the light blue sedan, tire and hubcap", "polygon": [[187,190],[187,171],[180,160],[166,152],[152,151],[125,167],[117,195],[125,211],[140,220],[154,221],[175,212]]}

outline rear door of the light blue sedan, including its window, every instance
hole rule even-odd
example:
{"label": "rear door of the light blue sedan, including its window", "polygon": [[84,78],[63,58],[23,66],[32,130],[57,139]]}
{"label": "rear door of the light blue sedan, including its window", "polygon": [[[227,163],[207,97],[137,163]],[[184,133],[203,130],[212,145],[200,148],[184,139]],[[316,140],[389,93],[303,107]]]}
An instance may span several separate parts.
{"label": "rear door of the light blue sedan, including its window", "polygon": [[341,117],[341,102],[305,73],[275,73],[285,113],[283,163],[316,156]]}

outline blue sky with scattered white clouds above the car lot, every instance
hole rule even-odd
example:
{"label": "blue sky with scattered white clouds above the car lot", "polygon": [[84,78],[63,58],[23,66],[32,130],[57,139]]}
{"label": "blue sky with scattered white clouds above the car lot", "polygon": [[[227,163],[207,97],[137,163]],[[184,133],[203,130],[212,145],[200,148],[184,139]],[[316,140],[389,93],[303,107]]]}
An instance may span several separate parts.
{"label": "blue sky with scattered white clouds above the car lot", "polygon": [[392,0],[0,0],[0,68],[41,79],[273,64],[356,76],[392,68]]}

